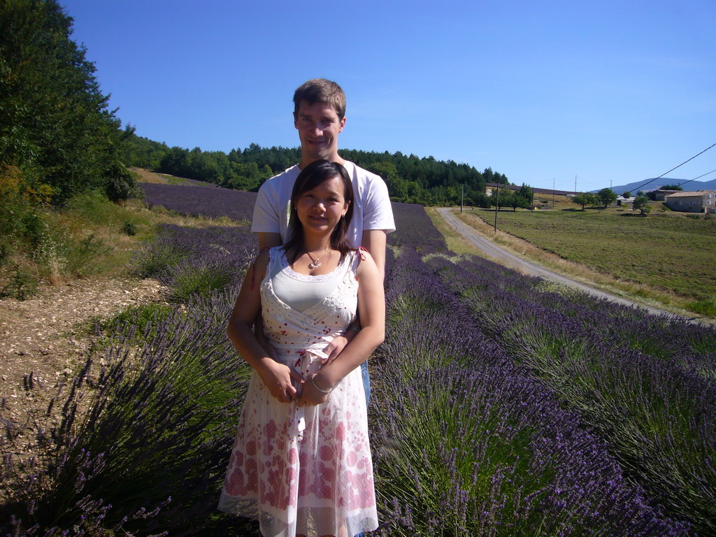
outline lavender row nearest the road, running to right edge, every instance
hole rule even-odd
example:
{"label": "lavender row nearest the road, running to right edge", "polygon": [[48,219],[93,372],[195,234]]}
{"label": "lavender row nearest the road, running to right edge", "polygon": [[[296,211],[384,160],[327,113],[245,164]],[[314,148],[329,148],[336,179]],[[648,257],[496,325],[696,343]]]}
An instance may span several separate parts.
{"label": "lavender row nearest the road, running to right edge", "polygon": [[[673,516],[693,521],[700,535],[716,531],[716,392],[700,371],[713,358],[698,348],[710,329],[690,327],[684,331],[690,338],[649,354],[657,343],[642,342],[629,328],[685,324],[604,301],[589,307],[584,299],[568,304],[556,294],[530,294],[534,282],[495,277],[482,260],[434,258],[430,266],[463,297],[488,337],[601,432],[652,497]],[[662,332],[674,337],[668,330],[645,332],[657,342]]]}

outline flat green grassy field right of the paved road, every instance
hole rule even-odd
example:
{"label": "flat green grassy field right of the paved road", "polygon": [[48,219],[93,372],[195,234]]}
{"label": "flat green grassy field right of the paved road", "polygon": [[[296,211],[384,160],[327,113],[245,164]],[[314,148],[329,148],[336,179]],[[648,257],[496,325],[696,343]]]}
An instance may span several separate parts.
{"label": "flat green grassy field right of the paved road", "polygon": [[[475,211],[488,223],[493,212]],[[619,279],[700,301],[716,296],[716,220],[606,211],[501,211],[498,228]]]}

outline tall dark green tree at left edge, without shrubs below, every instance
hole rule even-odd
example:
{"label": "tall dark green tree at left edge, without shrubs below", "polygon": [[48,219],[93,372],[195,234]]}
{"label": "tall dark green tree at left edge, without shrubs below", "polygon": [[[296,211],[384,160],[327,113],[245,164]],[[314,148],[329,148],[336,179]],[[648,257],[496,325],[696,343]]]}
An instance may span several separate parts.
{"label": "tall dark green tree at left edge, without shrubs below", "polygon": [[55,202],[92,188],[135,193],[120,158],[130,132],[70,39],[72,18],[54,0],[5,0],[0,28],[0,164],[22,170],[31,188],[49,185]]}

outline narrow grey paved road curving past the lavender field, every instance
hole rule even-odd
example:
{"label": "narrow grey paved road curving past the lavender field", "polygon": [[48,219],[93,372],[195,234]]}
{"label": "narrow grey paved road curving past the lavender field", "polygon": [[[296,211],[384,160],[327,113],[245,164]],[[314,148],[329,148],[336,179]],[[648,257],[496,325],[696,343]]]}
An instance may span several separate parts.
{"label": "narrow grey paved road curving past the lavender field", "polygon": [[594,287],[581,284],[579,281],[549,271],[543,266],[539,266],[535,263],[531,263],[530,261],[526,261],[525,259],[518,257],[513,253],[503,250],[503,248],[500,248],[500,246],[497,246],[495,243],[488,241],[488,239],[481,236],[480,233],[475,231],[473,228],[470,228],[470,226],[468,226],[467,224],[459,221],[455,214],[453,214],[453,210],[448,208],[440,208],[437,209],[437,212],[440,213],[440,216],[442,216],[442,218],[445,218],[445,221],[450,224],[450,226],[453,226],[453,228],[455,228],[458,233],[467,238],[470,243],[473,243],[475,246],[480,248],[480,250],[487,253],[488,256],[494,258],[503,265],[509,266],[513,269],[518,269],[519,271],[525,274],[529,274],[531,276],[541,276],[545,279],[556,281],[559,284],[577,287],[582,291],[586,291],[589,294],[599,296],[599,298],[601,299],[609,299],[619,304],[624,304],[625,306],[639,306],[640,308],[647,309],[649,313],[652,313],[654,315],[674,315],[670,311],[664,311],[662,309],[644,306],[643,304],[637,304],[636,302],[622,299],[620,296],[605,293],[604,291],[599,291],[599,289],[594,289]]}

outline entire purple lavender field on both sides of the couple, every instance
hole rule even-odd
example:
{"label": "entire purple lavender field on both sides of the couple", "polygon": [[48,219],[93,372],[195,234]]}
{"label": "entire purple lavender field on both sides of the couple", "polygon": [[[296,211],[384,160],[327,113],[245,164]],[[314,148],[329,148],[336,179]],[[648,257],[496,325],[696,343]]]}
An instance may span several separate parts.
{"label": "entire purple lavender field on both sides of the couple", "polygon": [[[251,218],[251,193],[150,186]],[[456,256],[422,207],[394,211],[374,535],[716,535],[716,331]],[[236,226],[165,226],[137,252],[171,305],[95,327],[60,422],[4,422],[0,534],[258,535],[215,511],[248,377],[226,319],[255,254]],[[28,434],[42,455],[12,456]]]}

